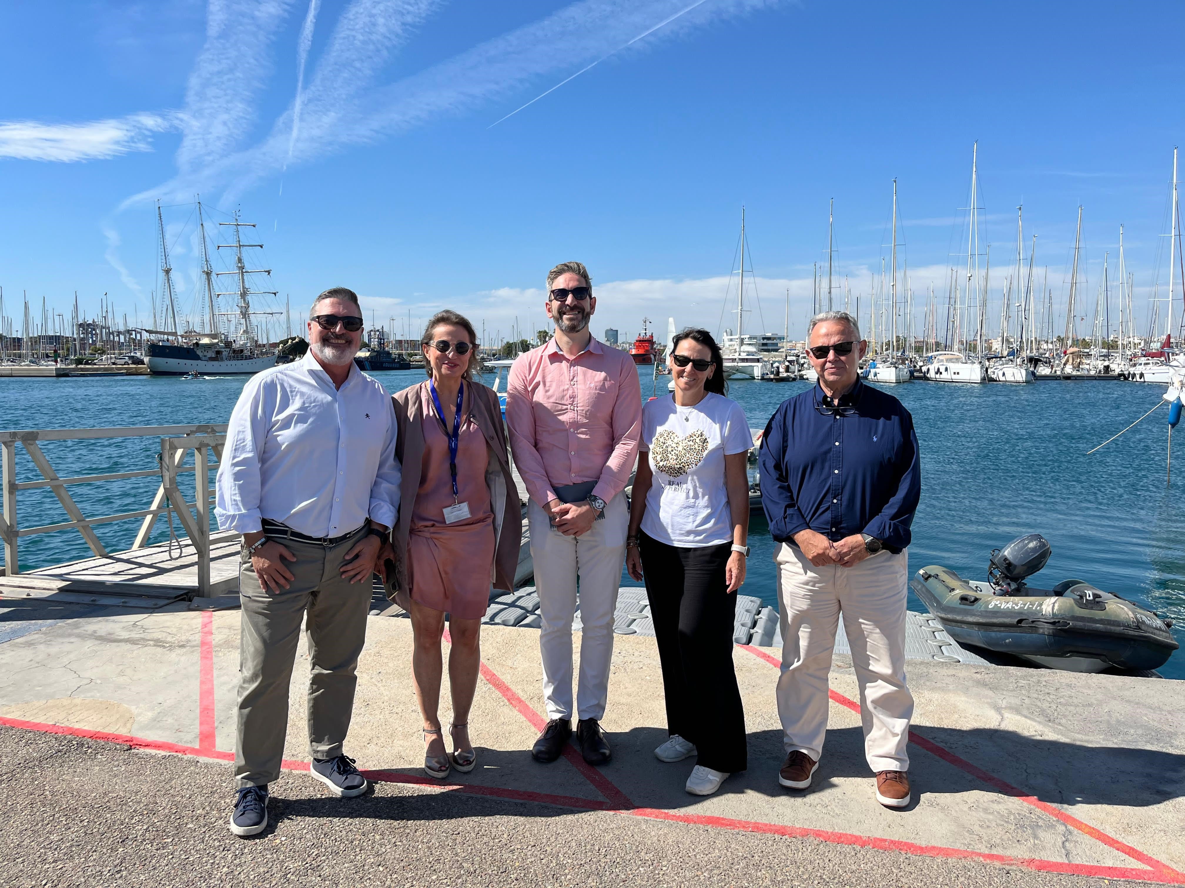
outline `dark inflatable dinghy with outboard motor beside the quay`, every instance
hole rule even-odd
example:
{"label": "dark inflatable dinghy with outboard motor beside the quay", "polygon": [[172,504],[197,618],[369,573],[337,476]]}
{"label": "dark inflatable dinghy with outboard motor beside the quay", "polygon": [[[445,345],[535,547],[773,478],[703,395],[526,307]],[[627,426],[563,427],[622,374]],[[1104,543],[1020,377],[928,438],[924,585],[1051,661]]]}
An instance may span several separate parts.
{"label": "dark inflatable dinghy with outboard motor beside the quay", "polygon": [[909,585],[959,644],[1076,673],[1165,664],[1179,646],[1172,620],[1083,580],[1027,586],[1051,553],[1044,536],[1026,534],[992,551],[986,583],[929,565]]}

